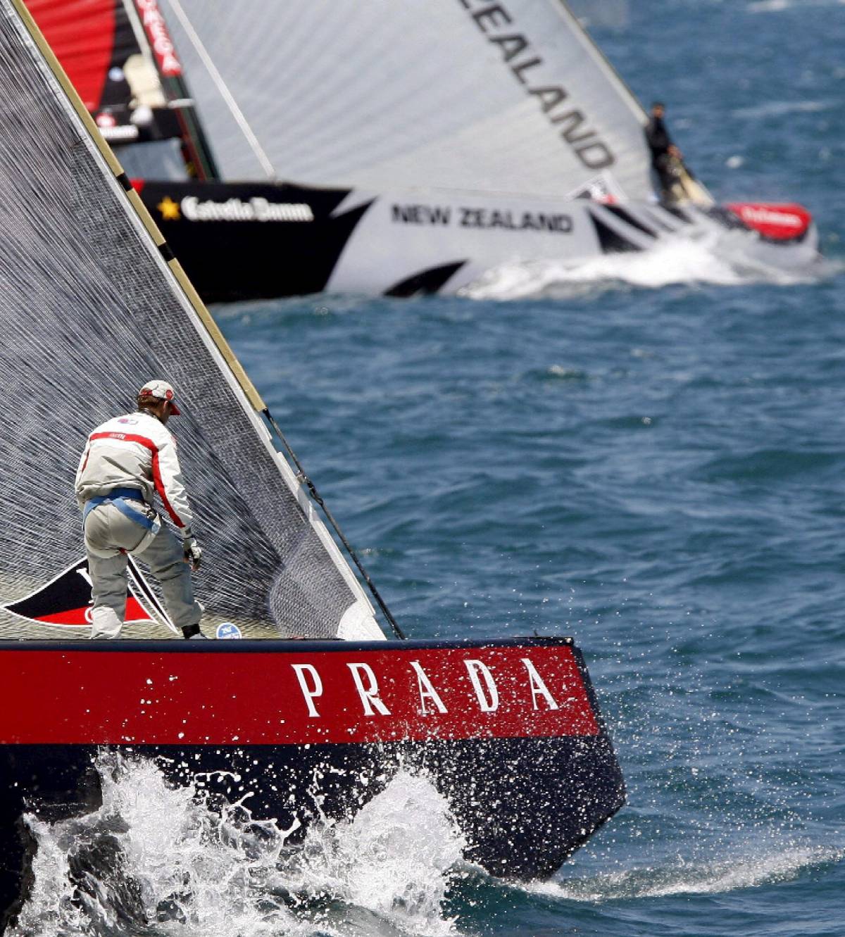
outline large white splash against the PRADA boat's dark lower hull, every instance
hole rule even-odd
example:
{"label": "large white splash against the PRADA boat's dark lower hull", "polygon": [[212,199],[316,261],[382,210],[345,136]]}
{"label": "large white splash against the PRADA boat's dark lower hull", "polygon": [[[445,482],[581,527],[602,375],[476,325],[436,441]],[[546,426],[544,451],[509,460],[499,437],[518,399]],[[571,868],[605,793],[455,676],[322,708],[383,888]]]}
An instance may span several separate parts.
{"label": "large white splash against the PRADA boat's dark lower hull", "polygon": [[149,761],[104,759],[102,807],[28,818],[35,883],[10,937],[454,934],[442,904],[465,846],[445,800],[400,772],[351,822],[255,821],[171,788]]}

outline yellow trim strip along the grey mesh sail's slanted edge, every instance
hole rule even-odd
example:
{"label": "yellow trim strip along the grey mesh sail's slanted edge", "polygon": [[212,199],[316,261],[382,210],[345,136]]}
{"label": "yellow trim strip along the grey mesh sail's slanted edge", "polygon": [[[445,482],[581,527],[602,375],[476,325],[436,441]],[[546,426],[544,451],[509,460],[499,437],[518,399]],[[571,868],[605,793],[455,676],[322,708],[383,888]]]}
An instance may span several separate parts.
{"label": "yellow trim strip along the grey mesh sail's slanted edge", "polygon": [[[21,19],[24,27],[26,28],[29,35],[32,37],[33,42],[38,47],[38,51],[44,56],[45,61],[50,67],[53,77],[59,84],[62,86],[62,90],[67,95],[68,100],[73,105],[73,109],[77,112],[82,124],[85,129],[88,131],[88,135],[95,142],[96,148],[99,150],[100,155],[106,160],[109,164],[109,169],[114,174],[116,179],[120,179],[121,176],[124,176],[124,169],[120,165],[117,157],[111,152],[111,147],[103,139],[103,135],[99,132],[99,128],[94,122],[94,118],[88,113],[87,108],[82,104],[82,98],[77,94],[76,88],[70,82],[70,79],[67,78],[65,69],[62,67],[61,62],[56,58],[55,53],[50,48],[50,44],[44,38],[41,30],[38,28],[37,22],[32,18],[29,10],[24,6],[23,0],[10,0],[12,7],[14,7],[15,12]],[[126,198],[129,203],[132,205],[136,215],[141,219],[141,223],[144,228],[152,237],[154,244],[157,247],[165,245],[167,242],[164,239],[161,231],[158,230],[156,222],[153,220],[153,217],[147,211],[146,206],[141,201],[141,197],[135,191],[135,189],[129,189],[126,192]],[[197,290],[194,289],[194,285],[185,275],[185,271],[182,269],[182,264],[178,260],[168,261],[168,267],[170,267],[170,273],[175,276],[176,281],[179,286],[185,292],[188,302],[193,307],[194,312],[200,318],[203,327],[211,336],[212,341],[215,343],[217,350],[223,356],[226,364],[229,365],[232,374],[235,376],[235,379],[241,385],[242,390],[246,394],[249,404],[254,409],[261,410],[267,409],[267,405],[261,399],[261,395],[256,390],[255,385],[247,377],[244,370],[244,365],[241,364],[237,357],[235,356],[234,351],[230,349],[229,342],[226,341],[226,338],[223,336],[223,333],[220,331],[217,323],[212,318],[211,313],[205,307],[205,304],[200,299],[200,294]]]}

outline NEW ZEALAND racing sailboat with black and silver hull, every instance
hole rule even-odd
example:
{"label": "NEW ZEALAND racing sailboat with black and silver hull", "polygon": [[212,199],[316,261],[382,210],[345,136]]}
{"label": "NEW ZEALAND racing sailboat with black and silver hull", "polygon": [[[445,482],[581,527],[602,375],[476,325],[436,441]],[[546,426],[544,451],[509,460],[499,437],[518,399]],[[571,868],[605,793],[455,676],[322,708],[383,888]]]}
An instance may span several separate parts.
{"label": "NEW ZEALAND racing sailboat with black and silver hull", "polygon": [[679,240],[819,260],[800,205],[719,205],[686,170],[660,202],[645,112],[563,0],[28,3],[206,301],[451,293]]}

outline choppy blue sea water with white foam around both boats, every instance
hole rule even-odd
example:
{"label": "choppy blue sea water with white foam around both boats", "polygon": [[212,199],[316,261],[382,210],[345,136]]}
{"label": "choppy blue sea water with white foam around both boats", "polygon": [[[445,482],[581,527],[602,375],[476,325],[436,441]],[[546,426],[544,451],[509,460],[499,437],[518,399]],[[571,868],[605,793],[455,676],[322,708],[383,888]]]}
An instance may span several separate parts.
{"label": "choppy blue sea water with white foam around both boats", "polygon": [[628,805],[517,886],[420,778],[289,855],[104,766],[102,811],[37,826],[20,934],[845,935],[845,4],[581,7],[719,198],[808,206],[827,275],[689,246],[215,315],[409,635],[576,638]]}

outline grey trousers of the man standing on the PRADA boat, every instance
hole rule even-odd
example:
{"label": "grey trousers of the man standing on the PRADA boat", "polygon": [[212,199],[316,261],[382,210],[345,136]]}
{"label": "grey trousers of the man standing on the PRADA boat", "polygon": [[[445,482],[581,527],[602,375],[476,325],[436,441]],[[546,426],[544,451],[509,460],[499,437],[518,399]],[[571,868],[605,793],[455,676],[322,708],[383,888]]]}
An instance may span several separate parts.
{"label": "grey trousers of the man standing on the PRADA boat", "polygon": [[[152,509],[149,510],[152,514]],[[146,534],[145,528],[120,513],[113,504],[100,504],[85,519],[85,548],[94,598],[92,638],[116,638],[123,628],[127,553],[149,565],[177,628],[200,623],[202,606],[194,600],[191,569],[185,563],[182,543],[162,524],[152,542],[139,551]]]}

